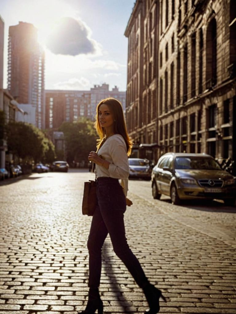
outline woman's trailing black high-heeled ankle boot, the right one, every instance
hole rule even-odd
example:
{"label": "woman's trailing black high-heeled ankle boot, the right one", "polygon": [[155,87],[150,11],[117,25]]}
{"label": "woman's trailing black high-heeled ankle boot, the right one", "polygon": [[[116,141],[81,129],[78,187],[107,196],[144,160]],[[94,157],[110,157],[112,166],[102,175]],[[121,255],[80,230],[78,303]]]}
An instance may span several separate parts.
{"label": "woman's trailing black high-heeled ankle boot, the right one", "polygon": [[149,305],[149,310],[146,310],[144,314],[158,313],[160,311],[159,299],[162,298],[166,302],[166,298],[159,289],[150,283],[143,287],[143,292]]}

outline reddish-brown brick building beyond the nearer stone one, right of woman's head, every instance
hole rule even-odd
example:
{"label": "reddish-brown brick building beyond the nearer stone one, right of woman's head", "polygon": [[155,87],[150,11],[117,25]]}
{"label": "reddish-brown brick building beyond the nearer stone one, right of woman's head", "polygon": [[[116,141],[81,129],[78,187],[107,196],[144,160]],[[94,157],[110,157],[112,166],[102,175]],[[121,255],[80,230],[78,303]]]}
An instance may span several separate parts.
{"label": "reddish-brown brick building beyond the nearer stone one, right of woman's head", "polygon": [[125,30],[128,38],[126,121],[128,132],[153,159],[157,149],[159,2],[136,1]]}

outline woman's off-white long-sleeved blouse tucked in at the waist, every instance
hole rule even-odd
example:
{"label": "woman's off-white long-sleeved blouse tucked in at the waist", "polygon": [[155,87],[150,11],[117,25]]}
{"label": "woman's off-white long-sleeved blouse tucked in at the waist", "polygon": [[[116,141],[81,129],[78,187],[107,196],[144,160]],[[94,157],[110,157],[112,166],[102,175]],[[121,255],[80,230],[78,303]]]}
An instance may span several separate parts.
{"label": "woman's off-white long-sleeved blouse tucked in at the waist", "polygon": [[110,162],[108,169],[96,165],[97,177],[121,179],[121,186],[124,188],[125,196],[127,196],[129,163],[126,143],[122,135],[114,134],[108,137],[97,153],[101,155],[104,160]]}

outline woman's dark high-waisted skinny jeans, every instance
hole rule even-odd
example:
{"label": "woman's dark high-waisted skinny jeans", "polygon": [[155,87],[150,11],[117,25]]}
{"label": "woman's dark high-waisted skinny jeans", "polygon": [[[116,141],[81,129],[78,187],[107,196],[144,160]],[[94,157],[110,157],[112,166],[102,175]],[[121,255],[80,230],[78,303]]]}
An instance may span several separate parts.
{"label": "woman's dark high-waisted skinny jeans", "polygon": [[98,206],[93,214],[87,243],[89,251],[88,286],[97,288],[100,284],[101,251],[109,233],[115,254],[126,265],[136,283],[142,288],[147,283],[147,278],[127,243],[124,226],[126,198],[118,179],[98,178],[97,196]]}

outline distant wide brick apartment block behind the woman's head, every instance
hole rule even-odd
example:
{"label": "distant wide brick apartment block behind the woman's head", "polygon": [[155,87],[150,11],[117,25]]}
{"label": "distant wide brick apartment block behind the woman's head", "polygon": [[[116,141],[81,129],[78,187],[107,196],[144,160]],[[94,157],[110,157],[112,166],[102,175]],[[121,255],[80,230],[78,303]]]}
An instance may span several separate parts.
{"label": "distant wide brick apartment block behind the woman's head", "polygon": [[118,99],[125,109],[126,92],[108,84],[94,85],[90,90],[46,90],[45,127],[58,128],[63,122],[73,122],[80,117],[95,119],[98,103],[107,97]]}

